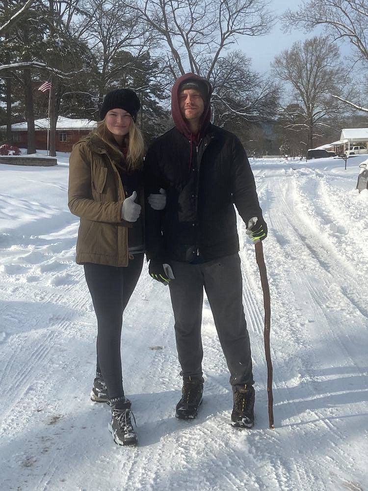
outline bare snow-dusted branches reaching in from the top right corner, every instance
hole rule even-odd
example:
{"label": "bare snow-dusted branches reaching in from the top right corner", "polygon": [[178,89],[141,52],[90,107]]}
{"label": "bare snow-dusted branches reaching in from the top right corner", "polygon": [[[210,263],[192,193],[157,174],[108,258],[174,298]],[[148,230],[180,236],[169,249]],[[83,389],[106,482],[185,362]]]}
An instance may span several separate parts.
{"label": "bare snow-dusted branches reaching in from the top right corner", "polygon": [[[351,43],[355,59],[368,68],[368,3],[367,0],[304,0],[296,11],[287,10],[283,15],[286,31],[304,27],[312,31],[324,27],[334,41]],[[346,100],[337,88],[334,97],[343,103],[368,112],[361,104]]]}

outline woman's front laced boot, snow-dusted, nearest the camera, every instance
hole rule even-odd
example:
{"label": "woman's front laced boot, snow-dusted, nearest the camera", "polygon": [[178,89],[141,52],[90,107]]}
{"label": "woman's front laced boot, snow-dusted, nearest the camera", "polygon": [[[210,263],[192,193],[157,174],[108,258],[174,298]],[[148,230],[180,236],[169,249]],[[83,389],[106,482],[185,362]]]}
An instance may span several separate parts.
{"label": "woman's front laced boot, snow-dusted, nearest the camera", "polygon": [[118,445],[136,445],[138,438],[131,424],[131,416],[133,416],[135,423],[134,414],[131,412],[131,401],[125,399],[123,403],[120,402],[118,407],[116,406],[111,407],[111,423],[108,425],[114,442]]}

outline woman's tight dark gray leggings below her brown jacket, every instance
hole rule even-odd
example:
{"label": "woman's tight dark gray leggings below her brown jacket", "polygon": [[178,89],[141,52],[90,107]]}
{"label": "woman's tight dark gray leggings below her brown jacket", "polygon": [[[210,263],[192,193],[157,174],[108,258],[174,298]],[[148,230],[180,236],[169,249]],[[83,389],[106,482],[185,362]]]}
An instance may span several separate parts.
{"label": "woman's tight dark gray leggings below her brown jacket", "polygon": [[97,369],[110,399],[124,397],[120,340],[123,312],[137,284],[144,254],[134,254],[126,268],[85,263],[84,274],[97,317]]}

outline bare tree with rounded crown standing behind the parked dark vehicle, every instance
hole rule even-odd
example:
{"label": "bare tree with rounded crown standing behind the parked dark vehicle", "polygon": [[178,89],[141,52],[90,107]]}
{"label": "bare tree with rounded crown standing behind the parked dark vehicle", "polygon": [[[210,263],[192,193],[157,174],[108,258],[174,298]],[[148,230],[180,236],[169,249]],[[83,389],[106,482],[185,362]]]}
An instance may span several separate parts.
{"label": "bare tree with rounded crown standing behind the parked dark vehicle", "polygon": [[[272,63],[274,75],[291,87],[289,103],[298,104],[302,111],[284,110],[293,131],[308,132],[308,148],[313,148],[317,131],[329,126],[326,118],[343,113],[343,108],[331,94],[347,92],[347,71],[340,61],[339,49],[326,36],[316,36],[300,41],[275,57]],[[351,91],[350,91],[351,95]],[[349,96],[349,94],[348,94]],[[299,122],[301,121],[301,122]]]}

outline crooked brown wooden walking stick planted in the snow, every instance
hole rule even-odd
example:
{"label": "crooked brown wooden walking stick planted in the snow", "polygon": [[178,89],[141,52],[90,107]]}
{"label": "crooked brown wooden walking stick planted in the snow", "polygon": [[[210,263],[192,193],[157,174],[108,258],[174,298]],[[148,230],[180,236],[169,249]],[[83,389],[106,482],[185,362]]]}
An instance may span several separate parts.
{"label": "crooked brown wooden walking stick planted in the snow", "polygon": [[256,247],[256,260],[258,269],[260,270],[261,284],[263,290],[263,306],[264,306],[264,351],[266,354],[267,362],[267,394],[268,394],[268,420],[269,428],[274,429],[273,424],[273,394],[272,394],[272,360],[270,349],[270,328],[271,328],[271,298],[269,294],[269,285],[267,279],[267,270],[264,263],[263,245],[262,242],[257,242]]}

